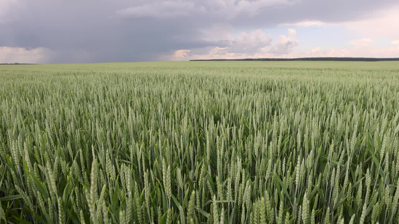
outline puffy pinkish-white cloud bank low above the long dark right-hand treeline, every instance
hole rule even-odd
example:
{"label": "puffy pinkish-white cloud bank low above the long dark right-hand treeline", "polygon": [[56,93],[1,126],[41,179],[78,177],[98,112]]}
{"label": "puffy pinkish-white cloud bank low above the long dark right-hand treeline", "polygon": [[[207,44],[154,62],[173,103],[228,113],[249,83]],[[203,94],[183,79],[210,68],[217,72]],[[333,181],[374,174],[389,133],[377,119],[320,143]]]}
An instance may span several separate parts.
{"label": "puffy pinkish-white cloud bank low above the long dark right-hand treeline", "polygon": [[[352,47],[313,47],[307,51],[295,50],[299,41],[294,37],[296,30],[287,29],[287,35],[280,35],[272,45],[272,37],[261,30],[240,33],[228,40],[225,46],[192,49],[185,57],[174,60],[192,59],[244,59],[244,58],[298,58],[298,57],[398,57],[399,40],[393,40],[391,47],[378,47],[371,38],[350,41]],[[230,35],[230,34],[229,34]],[[227,35],[227,36],[229,36]],[[271,46],[270,46],[271,45]],[[393,46],[395,45],[395,46]],[[263,47],[262,47],[263,46]],[[164,55],[163,60],[170,60],[171,55]]]}

